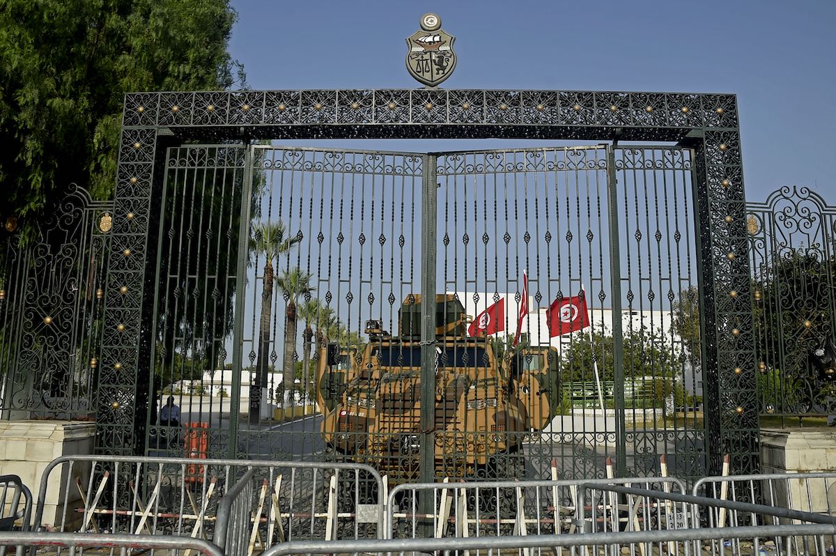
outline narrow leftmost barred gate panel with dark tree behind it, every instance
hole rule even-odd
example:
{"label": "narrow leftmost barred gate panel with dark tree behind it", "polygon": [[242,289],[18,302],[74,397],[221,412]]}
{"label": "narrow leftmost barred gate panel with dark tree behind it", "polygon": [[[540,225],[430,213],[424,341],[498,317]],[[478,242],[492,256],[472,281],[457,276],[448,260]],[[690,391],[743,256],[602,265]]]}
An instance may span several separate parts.
{"label": "narrow leftmost barred gate panel with dark tree behind it", "polygon": [[[155,218],[159,232],[146,455],[182,456],[186,435],[209,457],[227,457],[235,442],[234,390],[240,373],[233,346],[243,301],[237,263],[250,198],[246,153],[242,145],[166,151]],[[246,250],[246,241],[243,245]],[[179,418],[166,409],[169,397]],[[184,430],[188,424],[194,427]]]}

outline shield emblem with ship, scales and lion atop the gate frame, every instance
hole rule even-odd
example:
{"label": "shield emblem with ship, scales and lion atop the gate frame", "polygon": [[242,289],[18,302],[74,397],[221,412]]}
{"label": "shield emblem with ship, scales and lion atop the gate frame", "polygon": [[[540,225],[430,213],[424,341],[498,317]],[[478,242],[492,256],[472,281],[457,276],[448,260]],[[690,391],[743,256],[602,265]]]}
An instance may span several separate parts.
{"label": "shield emblem with ship, scales and lion atop the gate frame", "polygon": [[406,69],[427,87],[437,87],[456,69],[456,38],[441,29],[441,18],[435,13],[421,17],[421,31],[406,39]]}

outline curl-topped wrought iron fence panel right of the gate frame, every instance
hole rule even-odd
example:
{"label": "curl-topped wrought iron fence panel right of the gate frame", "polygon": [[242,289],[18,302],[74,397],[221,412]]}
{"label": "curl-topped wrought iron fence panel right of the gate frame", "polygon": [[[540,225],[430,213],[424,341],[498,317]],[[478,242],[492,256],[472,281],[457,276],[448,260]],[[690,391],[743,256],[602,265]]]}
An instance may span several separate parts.
{"label": "curl-topped wrought iron fence panel right of the gate frame", "polygon": [[836,207],[793,186],[747,211],[758,410],[781,425],[833,415],[833,373],[811,355],[836,341]]}

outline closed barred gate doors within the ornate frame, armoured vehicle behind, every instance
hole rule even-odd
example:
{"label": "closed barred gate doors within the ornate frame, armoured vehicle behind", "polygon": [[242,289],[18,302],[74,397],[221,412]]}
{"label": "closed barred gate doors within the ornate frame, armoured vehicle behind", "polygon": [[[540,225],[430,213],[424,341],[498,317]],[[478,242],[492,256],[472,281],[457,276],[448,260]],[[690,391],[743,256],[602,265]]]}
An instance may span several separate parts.
{"label": "closed barred gate doors within the ornate frame, armoured vehicle behind", "polygon": [[[699,474],[699,347],[681,332],[697,284],[692,156],[171,147],[146,453],[181,451],[161,416],[172,395],[229,457],[432,480],[604,477],[607,457],[652,474],[667,454]],[[589,326],[555,334],[548,307],[572,296]],[[456,306],[502,306],[498,334],[426,324],[461,318]]]}

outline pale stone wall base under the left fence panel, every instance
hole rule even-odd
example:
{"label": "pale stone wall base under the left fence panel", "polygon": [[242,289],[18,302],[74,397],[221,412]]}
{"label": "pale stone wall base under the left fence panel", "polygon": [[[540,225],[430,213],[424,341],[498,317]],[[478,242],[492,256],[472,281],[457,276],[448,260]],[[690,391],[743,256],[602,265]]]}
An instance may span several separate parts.
{"label": "pale stone wall base under the left fence panel", "polygon": [[[85,421],[0,421],[0,472],[18,475],[32,491],[33,518],[43,470],[56,457],[93,453],[95,431],[95,423]],[[74,526],[80,523],[81,516],[75,509],[82,504],[75,480],[79,477],[86,482],[89,464],[76,464],[72,477],[67,475],[61,468],[50,474],[43,523],[33,525],[53,528],[64,522],[65,530],[77,529]],[[61,515],[65,507],[67,514]]]}

